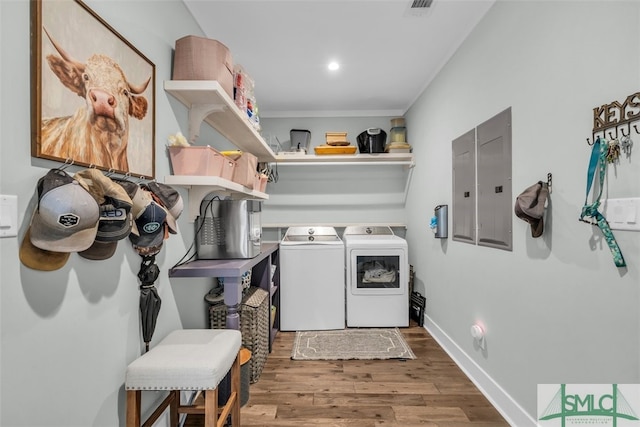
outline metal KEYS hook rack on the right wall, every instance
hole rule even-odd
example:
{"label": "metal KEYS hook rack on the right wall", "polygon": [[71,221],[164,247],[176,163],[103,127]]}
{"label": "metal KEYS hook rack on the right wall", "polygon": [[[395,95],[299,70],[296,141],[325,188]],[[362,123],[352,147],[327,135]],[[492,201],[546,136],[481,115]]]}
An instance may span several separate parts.
{"label": "metal KEYS hook rack on the right wall", "polygon": [[[636,92],[622,102],[613,101],[593,109],[593,130],[587,144],[592,146],[597,138],[630,138],[635,132],[640,134],[640,92]],[[633,130],[632,130],[633,128]]]}

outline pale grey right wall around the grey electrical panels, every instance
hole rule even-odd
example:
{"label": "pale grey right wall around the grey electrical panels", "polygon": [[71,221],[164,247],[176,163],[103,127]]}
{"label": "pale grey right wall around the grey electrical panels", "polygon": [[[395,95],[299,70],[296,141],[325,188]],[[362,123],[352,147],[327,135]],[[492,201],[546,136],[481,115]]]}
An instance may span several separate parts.
{"label": "pale grey right wall around the grey electrical panels", "polygon": [[[600,231],[577,220],[592,109],[639,90],[639,52],[637,2],[499,1],[406,115],[420,135],[407,236],[428,325],[526,422],[539,383],[640,381],[640,233],[614,232],[628,265],[618,269]],[[452,200],[451,141],[507,107],[513,199],[553,173],[544,236],[514,215],[513,252],[435,239],[428,219]],[[609,197],[640,196],[639,164],[636,151],[610,167]],[[476,321],[486,351],[469,333]]]}

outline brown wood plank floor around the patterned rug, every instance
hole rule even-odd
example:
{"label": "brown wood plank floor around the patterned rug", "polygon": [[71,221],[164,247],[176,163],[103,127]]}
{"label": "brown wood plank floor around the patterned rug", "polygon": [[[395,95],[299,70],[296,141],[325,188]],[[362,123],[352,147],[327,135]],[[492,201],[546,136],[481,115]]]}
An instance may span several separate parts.
{"label": "brown wood plank floor around the patterned rug", "polygon": [[417,359],[295,361],[295,332],[279,332],[242,426],[509,426],[424,328],[400,330]]}

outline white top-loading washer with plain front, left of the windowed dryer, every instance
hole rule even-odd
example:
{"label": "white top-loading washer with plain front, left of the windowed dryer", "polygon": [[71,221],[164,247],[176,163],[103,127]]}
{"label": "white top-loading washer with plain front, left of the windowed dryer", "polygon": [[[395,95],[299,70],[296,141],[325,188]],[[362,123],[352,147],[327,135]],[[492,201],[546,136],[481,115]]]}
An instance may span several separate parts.
{"label": "white top-loading washer with plain front, left of the windowed dryer", "polygon": [[344,243],[333,227],[290,227],[280,242],[280,329],[344,329]]}

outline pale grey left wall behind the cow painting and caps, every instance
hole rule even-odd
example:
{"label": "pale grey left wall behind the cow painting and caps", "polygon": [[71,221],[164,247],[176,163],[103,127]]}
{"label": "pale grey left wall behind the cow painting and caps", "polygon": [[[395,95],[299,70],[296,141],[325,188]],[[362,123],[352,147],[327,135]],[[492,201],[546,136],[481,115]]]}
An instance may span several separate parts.
{"label": "pale grey left wall behind the cow painting and caps", "polygon": [[[156,66],[156,173],[162,179],[169,173],[166,136],[186,127],[185,108],[162,83],[171,77],[174,41],[201,30],[180,1],[163,1],[161,7],[157,1],[86,3]],[[0,18],[0,193],[18,196],[22,233],[37,180],[59,164],[30,154],[29,2],[0,1]],[[184,312],[204,317],[198,285],[194,295],[185,282],[167,277],[192,236],[184,218],[179,226],[183,232],[166,242],[157,260],[163,303],[153,342],[195,323],[183,321]],[[62,269],[39,272],[20,263],[20,241],[0,240],[0,424],[124,425],[125,368],[144,349],[136,277],[140,257],[123,241],[109,260],[72,254]],[[154,398],[148,393],[145,406]]]}

